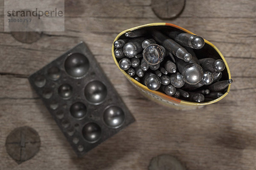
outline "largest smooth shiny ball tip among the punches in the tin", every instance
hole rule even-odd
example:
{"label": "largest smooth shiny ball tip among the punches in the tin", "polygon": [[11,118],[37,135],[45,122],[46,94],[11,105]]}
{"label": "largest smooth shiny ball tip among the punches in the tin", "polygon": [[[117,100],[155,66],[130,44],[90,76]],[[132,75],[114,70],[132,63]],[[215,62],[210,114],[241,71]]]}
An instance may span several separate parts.
{"label": "largest smooth shiny ball tip among the punches in the tin", "polygon": [[198,84],[203,78],[204,70],[196,63],[189,63],[183,68],[181,75],[187,84]]}

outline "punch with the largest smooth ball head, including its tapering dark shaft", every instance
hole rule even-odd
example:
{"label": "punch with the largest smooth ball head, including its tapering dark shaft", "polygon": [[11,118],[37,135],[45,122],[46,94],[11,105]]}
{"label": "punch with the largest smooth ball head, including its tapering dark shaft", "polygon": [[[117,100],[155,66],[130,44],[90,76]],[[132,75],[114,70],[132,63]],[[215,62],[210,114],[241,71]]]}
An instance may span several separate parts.
{"label": "punch with the largest smooth ball head, including its tapering dark shaft", "polygon": [[175,60],[176,66],[187,84],[198,84],[202,80],[204,70],[201,66],[196,63],[185,62],[179,58],[175,58]]}

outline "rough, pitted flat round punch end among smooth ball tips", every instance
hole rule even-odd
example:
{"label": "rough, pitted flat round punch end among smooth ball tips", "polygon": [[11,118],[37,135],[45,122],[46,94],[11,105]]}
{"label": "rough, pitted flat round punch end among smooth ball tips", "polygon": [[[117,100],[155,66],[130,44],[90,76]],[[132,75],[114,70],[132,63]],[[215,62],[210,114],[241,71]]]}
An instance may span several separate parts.
{"label": "rough, pitted flat round punch end among smooth ball tips", "polygon": [[158,44],[150,44],[143,50],[143,58],[149,65],[156,65],[163,61],[166,50]]}

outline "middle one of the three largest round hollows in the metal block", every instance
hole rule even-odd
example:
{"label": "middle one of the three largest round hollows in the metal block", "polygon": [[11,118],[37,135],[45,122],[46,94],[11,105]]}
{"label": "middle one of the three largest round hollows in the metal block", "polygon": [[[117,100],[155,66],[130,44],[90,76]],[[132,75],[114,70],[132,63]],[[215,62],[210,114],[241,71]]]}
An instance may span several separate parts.
{"label": "middle one of the three largest round hollows in the metal block", "polygon": [[104,101],[107,93],[107,87],[101,81],[91,81],[84,88],[85,98],[94,104]]}

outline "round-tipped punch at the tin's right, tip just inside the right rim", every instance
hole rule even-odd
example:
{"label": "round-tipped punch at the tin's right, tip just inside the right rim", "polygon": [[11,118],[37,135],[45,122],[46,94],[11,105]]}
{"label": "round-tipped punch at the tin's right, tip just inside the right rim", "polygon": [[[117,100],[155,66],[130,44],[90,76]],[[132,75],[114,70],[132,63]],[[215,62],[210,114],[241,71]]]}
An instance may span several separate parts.
{"label": "round-tipped punch at the tin's right, tip just inside the right rim", "polygon": [[222,60],[215,60],[213,58],[202,58],[198,61],[204,71],[221,72],[225,69],[225,63]]}

